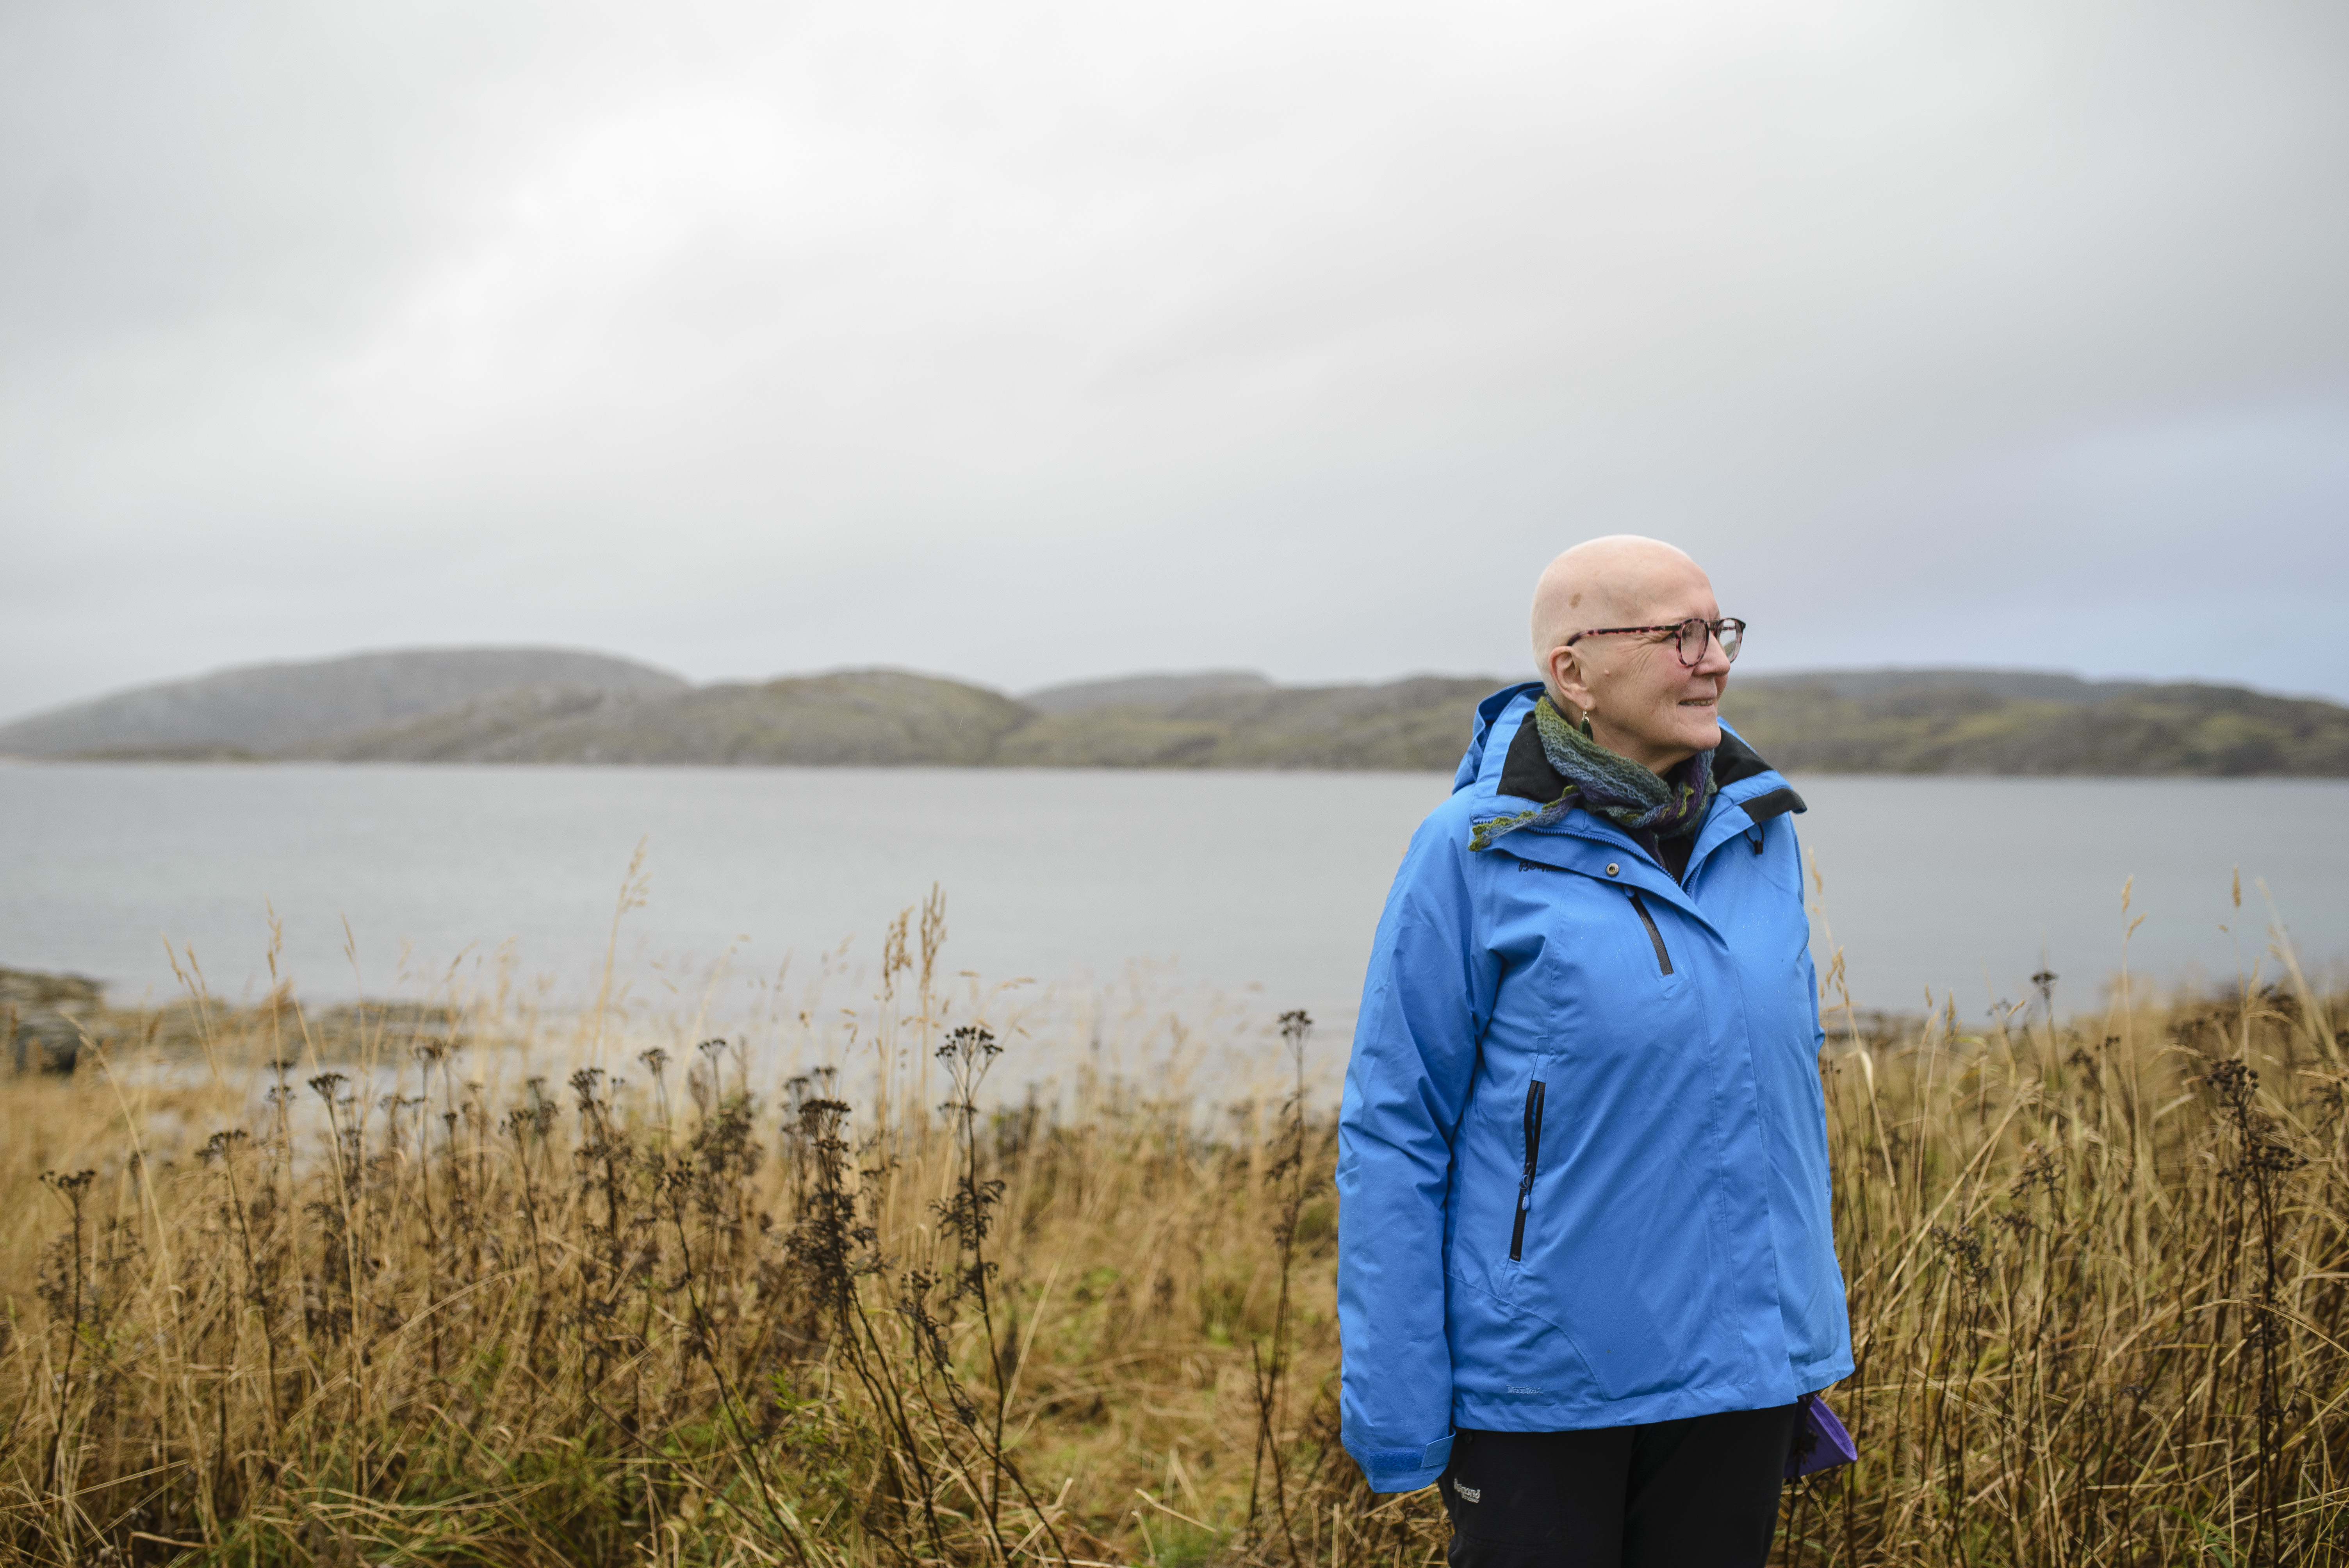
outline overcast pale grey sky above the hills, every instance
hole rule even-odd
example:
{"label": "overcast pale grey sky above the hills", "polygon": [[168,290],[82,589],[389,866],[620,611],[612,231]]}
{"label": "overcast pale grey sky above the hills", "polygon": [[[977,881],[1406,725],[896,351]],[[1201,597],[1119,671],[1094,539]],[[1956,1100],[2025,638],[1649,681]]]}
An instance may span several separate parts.
{"label": "overcast pale grey sky above the hills", "polygon": [[561,643],[2349,697],[2337,0],[0,7],[0,714]]}

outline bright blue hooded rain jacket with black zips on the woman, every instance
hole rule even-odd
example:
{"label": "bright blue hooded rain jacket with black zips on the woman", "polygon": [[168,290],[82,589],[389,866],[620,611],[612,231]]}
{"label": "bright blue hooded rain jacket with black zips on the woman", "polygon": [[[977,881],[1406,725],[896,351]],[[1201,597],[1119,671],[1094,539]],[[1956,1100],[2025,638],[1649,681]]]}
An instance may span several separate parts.
{"label": "bright blue hooded rain jacket with black zips on the woman", "polygon": [[1452,1430],[1792,1404],[1851,1373],[1828,1216],[1818,981],[1788,782],[1722,730],[1684,880],[1555,800],[1478,707],[1379,920],[1339,1110],[1346,1451],[1431,1486]]}

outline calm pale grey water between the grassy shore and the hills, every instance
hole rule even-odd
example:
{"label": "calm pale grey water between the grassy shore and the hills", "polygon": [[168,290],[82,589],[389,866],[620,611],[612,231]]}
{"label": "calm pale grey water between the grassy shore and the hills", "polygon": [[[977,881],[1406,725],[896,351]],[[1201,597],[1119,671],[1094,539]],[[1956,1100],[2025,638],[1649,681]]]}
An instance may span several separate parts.
{"label": "calm pale grey water between the grassy shore and the hills", "polygon": [[[940,883],[947,969],[1160,984],[1353,1016],[1388,876],[1447,779],[1299,772],[0,765],[0,965],[171,991],[164,941],[214,991],[265,986],[268,908],[308,995],[423,991],[512,944],[559,995],[620,927],[639,993],[824,955],[855,979]],[[2234,976],[2267,946],[2267,878],[2304,960],[2349,953],[2349,784],[1799,779],[1804,845],[1853,998],[1978,1014],[2041,965],[2086,1005],[2140,974]],[[2229,904],[2243,869],[2241,915]],[[345,920],[357,967],[345,955]],[[2222,922],[2243,932],[2236,944]],[[848,941],[846,958],[839,955]],[[869,988],[869,986],[867,986]],[[1325,1035],[1327,1038],[1327,1035]]]}

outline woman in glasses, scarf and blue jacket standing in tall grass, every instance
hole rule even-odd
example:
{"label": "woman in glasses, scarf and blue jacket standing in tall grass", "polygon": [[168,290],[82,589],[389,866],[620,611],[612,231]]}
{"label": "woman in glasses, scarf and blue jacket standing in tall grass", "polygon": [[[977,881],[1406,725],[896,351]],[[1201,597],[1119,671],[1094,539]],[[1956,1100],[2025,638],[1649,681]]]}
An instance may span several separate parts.
{"label": "woman in glasses, scarf and blue jacket standing in tall grass", "polygon": [[1344,1439],[1452,1563],[1759,1563],[1851,1371],[1792,812],[1670,545],[1543,573],[1372,951],[1339,1117]]}

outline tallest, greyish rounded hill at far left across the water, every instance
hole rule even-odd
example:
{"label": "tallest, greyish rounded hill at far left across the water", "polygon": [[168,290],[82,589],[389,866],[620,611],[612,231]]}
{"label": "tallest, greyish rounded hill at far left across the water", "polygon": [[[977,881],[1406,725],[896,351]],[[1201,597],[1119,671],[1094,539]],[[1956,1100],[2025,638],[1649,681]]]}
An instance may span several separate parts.
{"label": "tallest, greyish rounded hill at far left across the water", "polygon": [[305,664],[247,664],[49,709],[0,725],[0,756],[272,753],[526,685],[641,697],[688,690],[646,664],[561,648],[355,653]]}

